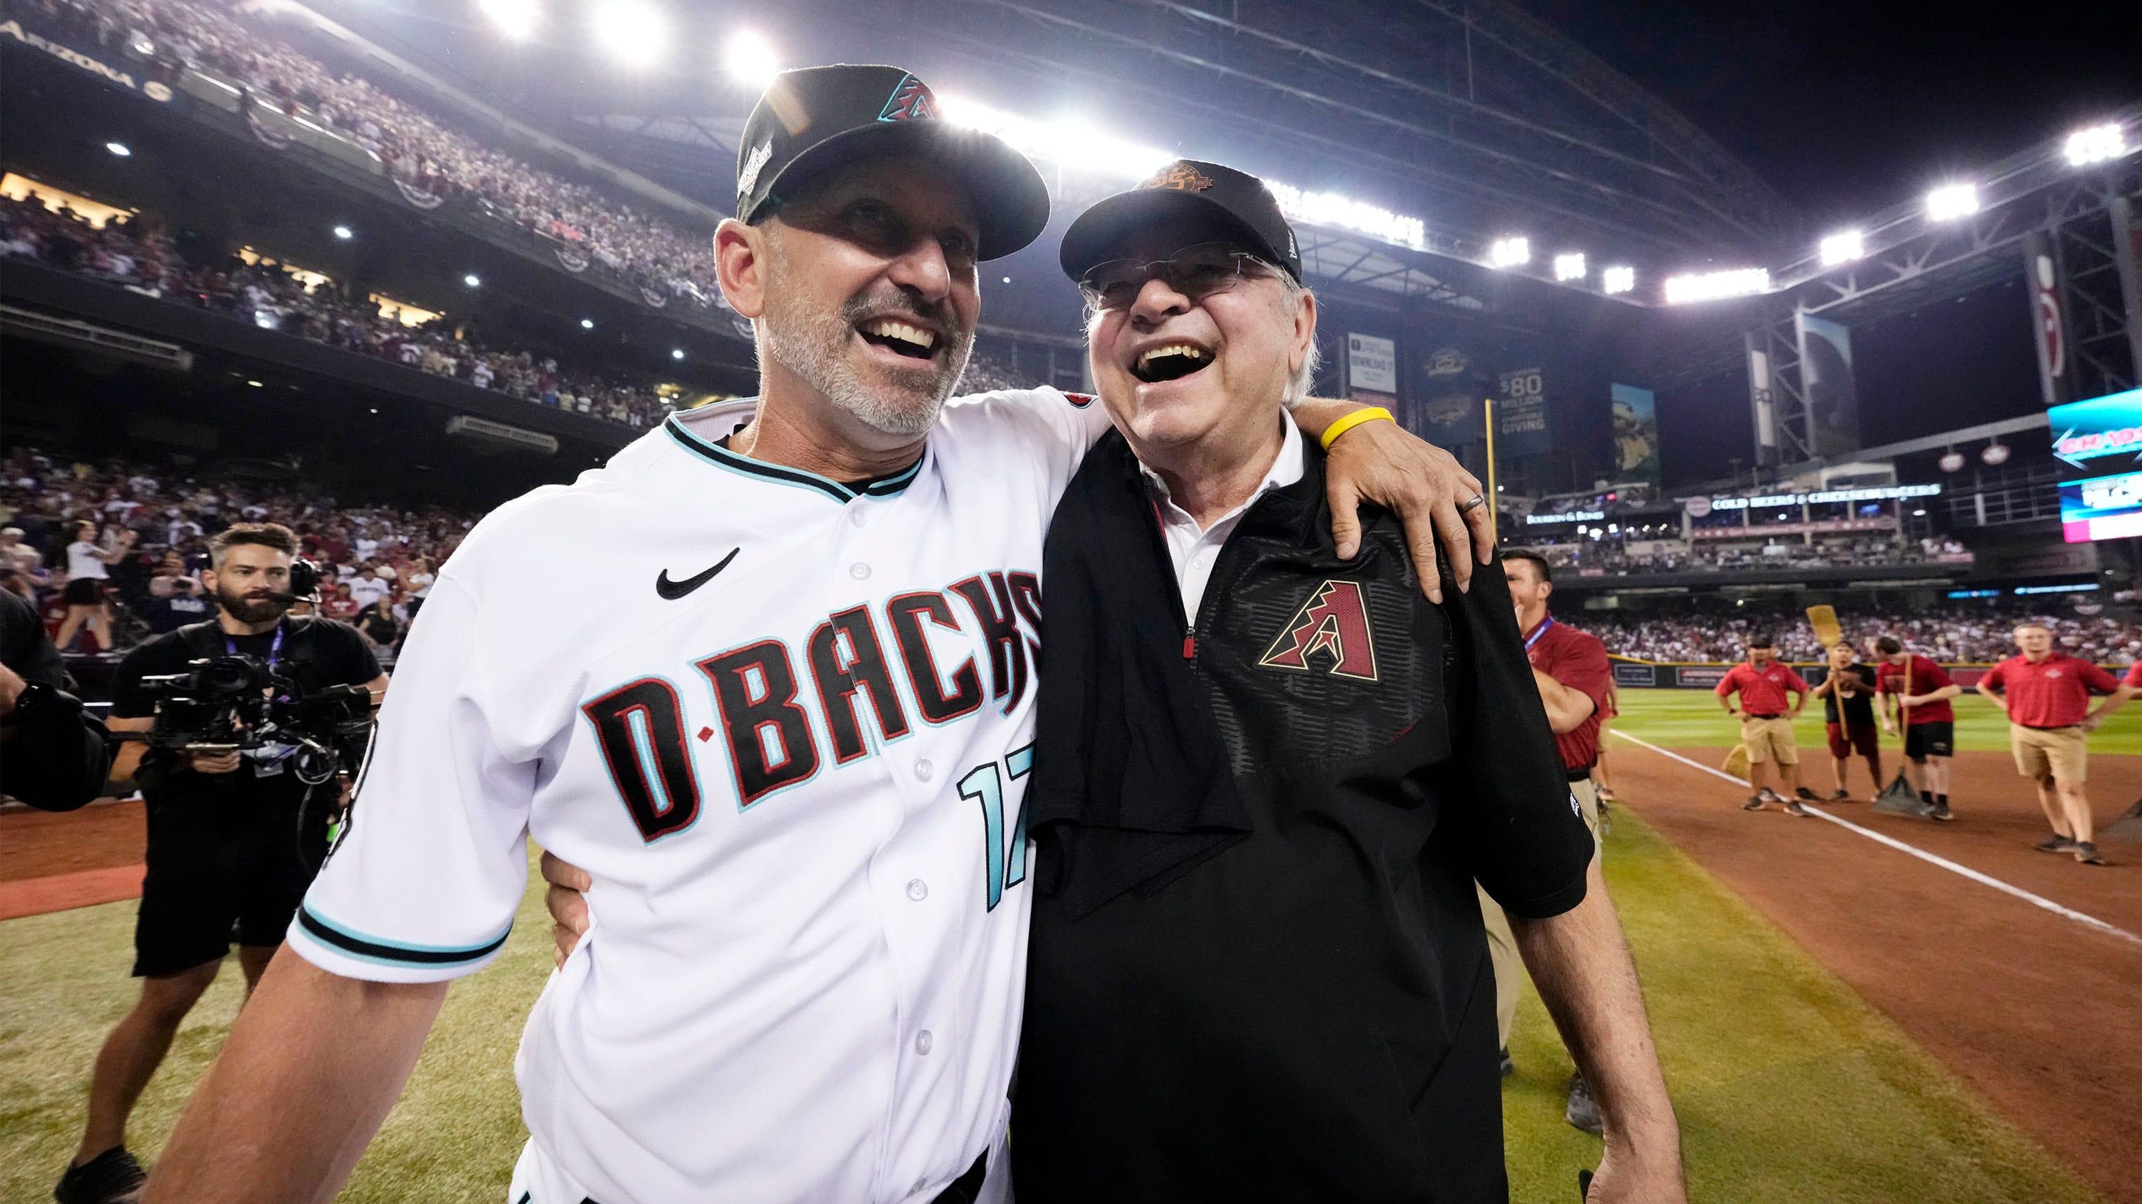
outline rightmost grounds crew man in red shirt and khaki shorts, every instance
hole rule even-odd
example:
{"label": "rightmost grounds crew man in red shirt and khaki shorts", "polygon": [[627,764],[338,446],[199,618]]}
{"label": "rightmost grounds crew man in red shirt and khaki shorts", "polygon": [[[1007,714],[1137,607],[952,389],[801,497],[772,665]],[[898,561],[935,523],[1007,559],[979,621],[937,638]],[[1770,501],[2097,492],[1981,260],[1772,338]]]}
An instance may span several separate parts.
{"label": "rightmost grounds crew man in red shirt and khaki shorts", "polygon": [[[2121,683],[2103,668],[2054,651],[2052,630],[2043,623],[2020,623],[2016,647],[2022,656],[2011,656],[1979,677],[1979,694],[2007,711],[2016,771],[2037,782],[2037,806],[2046,808],[2052,825],[2052,838],[2037,846],[2046,853],[2073,853],[2084,866],[2103,866],[2091,840],[2091,801],[2082,795],[2088,778],[2084,733],[2127,698],[2118,696]],[[2112,698],[2091,711],[2091,694]]]}

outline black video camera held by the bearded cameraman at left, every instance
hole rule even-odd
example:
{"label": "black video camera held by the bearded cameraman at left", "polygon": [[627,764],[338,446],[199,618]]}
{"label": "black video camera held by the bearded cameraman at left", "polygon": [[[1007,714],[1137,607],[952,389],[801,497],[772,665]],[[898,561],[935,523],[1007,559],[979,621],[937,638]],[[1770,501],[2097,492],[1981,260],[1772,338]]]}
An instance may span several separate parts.
{"label": "black video camera held by the bearded cameraman at left", "polygon": [[251,656],[201,658],[186,673],[141,679],[156,703],[148,743],[165,752],[289,748],[298,780],[317,786],[364,761],[373,698],[364,686],[304,692]]}

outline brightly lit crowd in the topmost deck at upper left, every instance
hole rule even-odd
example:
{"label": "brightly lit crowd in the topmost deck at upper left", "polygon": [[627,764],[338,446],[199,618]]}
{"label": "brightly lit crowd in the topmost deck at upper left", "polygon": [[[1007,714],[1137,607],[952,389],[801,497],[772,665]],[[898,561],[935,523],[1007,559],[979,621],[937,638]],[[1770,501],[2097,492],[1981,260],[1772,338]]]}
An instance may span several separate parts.
{"label": "brightly lit crowd in the topmost deck at upper left", "polygon": [[437,114],[328,69],[268,28],[240,21],[233,6],[212,0],[0,0],[0,13],[30,15],[105,47],[129,47],[174,71],[216,75],[377,154],[396,180],[428,197],[467,197],[471,208],[542,236],[568,257],[602,264],[664,302],[720,304],[707,236],[486,148]]}

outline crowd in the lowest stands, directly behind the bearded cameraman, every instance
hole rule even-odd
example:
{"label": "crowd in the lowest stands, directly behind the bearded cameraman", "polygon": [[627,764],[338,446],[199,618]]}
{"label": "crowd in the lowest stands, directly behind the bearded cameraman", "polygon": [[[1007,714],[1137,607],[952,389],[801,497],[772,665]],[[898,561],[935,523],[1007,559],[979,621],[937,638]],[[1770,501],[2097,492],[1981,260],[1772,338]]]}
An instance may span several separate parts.
{"label": "crowd in the lowest stands, directly behind the bearded cameraman", "polygon": [[283,523],[321,566],[319,613],[392,649],[476,518],[24,448],[0,461],[0,589],[28,598],[64,651],[120,651],[214,615],[201,585],[210,536]]}

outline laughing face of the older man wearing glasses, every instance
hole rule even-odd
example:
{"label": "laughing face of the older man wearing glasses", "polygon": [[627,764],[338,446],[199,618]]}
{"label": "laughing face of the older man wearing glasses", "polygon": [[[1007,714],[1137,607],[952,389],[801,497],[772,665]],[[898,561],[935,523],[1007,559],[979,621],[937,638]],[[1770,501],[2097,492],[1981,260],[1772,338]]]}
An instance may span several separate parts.
{"label": "laughing face of the older man wearing glasses", "polygon": [[[1165,221],[1129,238],[1116,257],[1167,259],[1212,238],[1208,223]],[[1289,289],[1277,268],[1242,264],[1238,276],[1202,298],[1155,272],[1120,308],[1095,313],[1086,353],[1110,418],[1140,454],[1152,454],[1268,424],[1287,401],[1315,328],[1315,298]]]}

